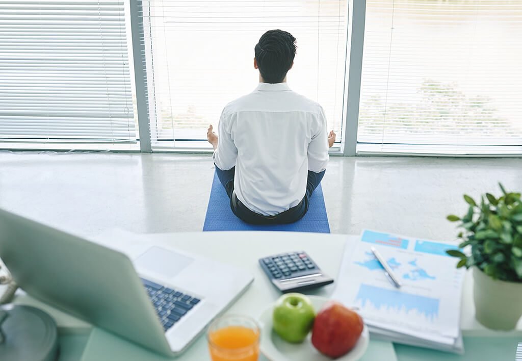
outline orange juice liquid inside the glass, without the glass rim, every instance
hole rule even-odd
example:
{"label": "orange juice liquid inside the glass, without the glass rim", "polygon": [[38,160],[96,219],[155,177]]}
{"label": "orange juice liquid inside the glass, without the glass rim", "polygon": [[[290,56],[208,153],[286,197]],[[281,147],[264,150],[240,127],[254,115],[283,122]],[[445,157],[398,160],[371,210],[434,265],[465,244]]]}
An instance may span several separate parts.
{"label": "orange juice liquid inside the glass, without the glass rim", "polygon": [[230,325],[208,334],[212,361],[257,361],[259,330]]}

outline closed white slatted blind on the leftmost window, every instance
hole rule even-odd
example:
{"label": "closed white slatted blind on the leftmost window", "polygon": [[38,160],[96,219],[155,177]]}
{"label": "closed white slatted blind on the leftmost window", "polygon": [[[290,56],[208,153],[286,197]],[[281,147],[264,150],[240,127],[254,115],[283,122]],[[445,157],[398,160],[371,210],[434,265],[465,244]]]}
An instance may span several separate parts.
{"label": "closed white slatted blind on the leftmost window", "polygon": [[136,141],[124,5],[0,2],[0,139]]}

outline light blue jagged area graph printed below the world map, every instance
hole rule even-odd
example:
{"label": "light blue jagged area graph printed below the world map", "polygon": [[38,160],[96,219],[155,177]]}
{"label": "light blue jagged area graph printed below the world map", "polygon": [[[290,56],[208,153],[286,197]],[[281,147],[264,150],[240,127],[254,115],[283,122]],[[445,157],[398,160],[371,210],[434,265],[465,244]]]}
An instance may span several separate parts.
{"label": "light blue jagged area graph printed below the world map", "polygon": [[366,302],[369,302],[377,309],[394,310],[397,312],[417,310],[431,320],[438,316],[438,304],[440,302],[436,298],[412,295],[399,290],[366,284],[362,284],[359,287],[355,300],[361,301],[362,308],[364,308]]}

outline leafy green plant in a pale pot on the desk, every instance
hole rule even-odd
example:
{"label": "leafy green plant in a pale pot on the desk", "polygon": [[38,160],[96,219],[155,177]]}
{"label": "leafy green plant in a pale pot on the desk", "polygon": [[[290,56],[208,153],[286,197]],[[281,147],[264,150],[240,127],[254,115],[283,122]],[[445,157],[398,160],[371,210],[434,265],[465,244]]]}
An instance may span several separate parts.
{"label": "leafy green plant in a pale pot on the desk", "polygon": [[477,204],[464,195],[466,215],[447,217],[460,222],[459,248],[470,248],[467,254],[447,253],[460,259],[457,267],[473,270],[477,320],[490,329],[513,330],[522,315],[522,200],[499,185],[499,198],[486,193]]}

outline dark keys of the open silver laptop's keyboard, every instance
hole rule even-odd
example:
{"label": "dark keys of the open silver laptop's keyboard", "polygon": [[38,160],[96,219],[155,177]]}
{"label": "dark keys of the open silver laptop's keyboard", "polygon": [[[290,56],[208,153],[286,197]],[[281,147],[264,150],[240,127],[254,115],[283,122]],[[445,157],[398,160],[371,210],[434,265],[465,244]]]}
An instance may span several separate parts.
{"label": "dark keys of the open silver laptop's keyboard", "polygon": [[181,320],[188,311],[199,303],[199,299],[176,291],[175,289],[163,287],[157,283],[144,280],[141,282],[147,289],[147,294],[156,309],[165,332],[177,321]]}

